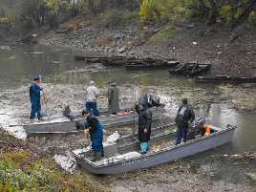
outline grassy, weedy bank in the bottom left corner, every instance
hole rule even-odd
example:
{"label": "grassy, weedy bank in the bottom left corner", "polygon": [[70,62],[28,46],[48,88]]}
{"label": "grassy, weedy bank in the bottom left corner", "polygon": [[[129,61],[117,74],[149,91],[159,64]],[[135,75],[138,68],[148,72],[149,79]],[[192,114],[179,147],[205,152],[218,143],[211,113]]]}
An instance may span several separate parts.
{"label": "grassy, weedy bank in the bottom left corner", "polygon": [[1,192],[97,192],[98,184],[81,172],[67,173],[32,143],[0,134]]}

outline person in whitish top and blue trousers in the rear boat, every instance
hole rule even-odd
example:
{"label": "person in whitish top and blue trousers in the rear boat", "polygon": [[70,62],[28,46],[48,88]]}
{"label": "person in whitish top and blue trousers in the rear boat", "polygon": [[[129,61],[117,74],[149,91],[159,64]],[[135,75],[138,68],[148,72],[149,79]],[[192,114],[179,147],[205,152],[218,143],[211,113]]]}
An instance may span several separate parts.
{"label": "person in whitish top and blue trousers in the rear boat", "polygon": [[91,80],[90,86],[86,89],[85,108],[86,108],[86,111],[91,112],[95,117],[99,117],[99,113],[97,111],[97,106],[96,106],[97,96],[98,96],[98,90],[96,88],[96,84],[93,80]]}

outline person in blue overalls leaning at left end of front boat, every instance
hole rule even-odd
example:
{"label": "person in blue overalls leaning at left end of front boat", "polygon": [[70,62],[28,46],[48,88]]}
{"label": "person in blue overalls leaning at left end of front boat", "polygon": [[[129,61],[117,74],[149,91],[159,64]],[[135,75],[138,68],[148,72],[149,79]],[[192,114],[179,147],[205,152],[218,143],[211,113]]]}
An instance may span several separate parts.
{"label": "person in blue overalls leaning at left end of front boat", "polygon": [[97,117],[94,117],[88,111],[82,111],[82,117],[86,119],[84,123],[76,121],[77,130],[85,130],[87,134],[89,132],[90,139],[92,141],[93,160],[100,160],[104,156],[103,150],[103,129],[104,126],[100,123]]}

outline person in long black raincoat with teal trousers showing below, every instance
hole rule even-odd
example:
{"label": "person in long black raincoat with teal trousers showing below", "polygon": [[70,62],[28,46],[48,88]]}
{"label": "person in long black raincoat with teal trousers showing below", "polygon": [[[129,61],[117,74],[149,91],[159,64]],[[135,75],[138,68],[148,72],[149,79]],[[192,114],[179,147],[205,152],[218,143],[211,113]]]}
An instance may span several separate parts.
{"label": "person in long black raincoat with teal trousers showing below", "polygon": [[138,136],[140,150],[142,154],[146,154],[149,151],[153,113],[145,97],[139,98],[139,104],[136,105],[136,111],[139,115]]}

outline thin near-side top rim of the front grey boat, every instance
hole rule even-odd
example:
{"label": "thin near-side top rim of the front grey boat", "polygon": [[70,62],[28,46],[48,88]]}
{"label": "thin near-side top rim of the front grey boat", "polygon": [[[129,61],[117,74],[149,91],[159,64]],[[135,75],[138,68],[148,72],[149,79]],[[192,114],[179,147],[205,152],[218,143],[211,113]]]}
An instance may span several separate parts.
{"label": "thin near-side top rim of the front grey boat", "polygon": [[[220,129],[218,128],[217,126],[212,126],[213,129],[214,128],[217,128],[219,129],[217,132],[215,133],[212,133],[210,134],[209,136],[203,136],[201,138],[198,138],[198,139],[191,139],[191,140],[188,140],[187,142],[183,142],[179,145],[174,145],[174,146],[169,146],[169,147],[165,147],[163,149],[160,149],[160,151],[158,152],[155,152],[155,153],[148,153],[148,154],[145,154],[143,156],[139,156],[139,157],[135,157],[135,158],[131,158],[131,159],[128,159],[128,160],[120,160],[120,161],[117,161],[117,162],[111,162],[111,163],[107,163],[107,164],[100,164],[100,165],[96,165],[95,162],[91,161],[91,160],[88,160],[88,159],[84,159],[84,161],[86,161],[88,165],[91,165],[93,166],[93,168],[96,168],[96,169],[99,169],[99,168],[105,168],[105,167],[109,167],[109,166],[113,166],[113,165],[117,165],[117,164],[120,164],[120,163],[124,163],[124,162],[128,162],[128,161],[131,161],[131,160],[139,160],[139,159],[142,159],[142,158],[148,158],[148,157],[151,157],[151,156],[156,156],[156,155],[159,155],[160,153],[164,153],[164,152],[167,152],[167,151],[171,151],[173,149],[179,149],[183,146],[186,146],[186,145],[189,145],[191,143],[195,143],[195,142],[199,142],[201,140],[204,140],[204,139],[210,139],[210,138],[214,138],[214,137],[217,137],[219,135],[222,135],[226,132],[229,132],[231,130],[235,130],[236,127],[235,126],[226,126],[226,128],[224,129]],[[75,156],[76,159],[79,159],[80,160],[80,157],[78,155],[76,155],[74,152],[72,152],[72,155]]]}

